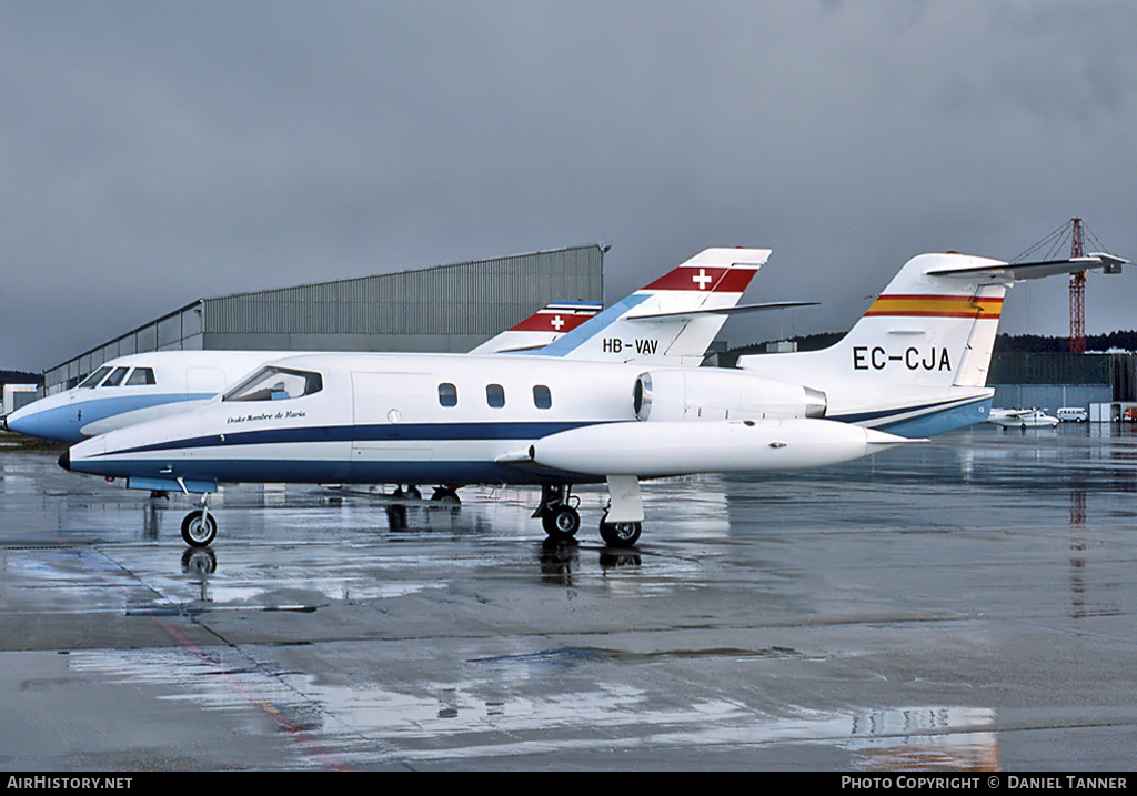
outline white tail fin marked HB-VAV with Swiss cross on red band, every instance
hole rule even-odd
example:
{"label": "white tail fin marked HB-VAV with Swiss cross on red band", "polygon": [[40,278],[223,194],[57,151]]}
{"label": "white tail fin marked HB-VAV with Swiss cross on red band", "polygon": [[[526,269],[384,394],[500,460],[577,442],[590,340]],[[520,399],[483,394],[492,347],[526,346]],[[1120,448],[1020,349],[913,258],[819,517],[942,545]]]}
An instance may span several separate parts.
{"label": "white tail fin marked HB-VAV with Swiss cross on red band", "polygon": [[697,365],[769,257],[770,249],[705,249],[537,354]]}

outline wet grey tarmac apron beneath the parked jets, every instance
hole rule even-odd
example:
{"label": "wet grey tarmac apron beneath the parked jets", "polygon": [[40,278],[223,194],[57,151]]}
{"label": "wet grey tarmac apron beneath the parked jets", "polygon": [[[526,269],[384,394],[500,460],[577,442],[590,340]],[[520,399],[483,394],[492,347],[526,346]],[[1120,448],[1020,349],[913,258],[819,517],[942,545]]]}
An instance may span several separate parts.
{"label": "wet grey tarmac apron beneath the parked jets", "polygon": [[0,449],[0,769],[1131,770],[1137,432],[993,425],[645,484],[633,550],[227,489],[211,549]]}

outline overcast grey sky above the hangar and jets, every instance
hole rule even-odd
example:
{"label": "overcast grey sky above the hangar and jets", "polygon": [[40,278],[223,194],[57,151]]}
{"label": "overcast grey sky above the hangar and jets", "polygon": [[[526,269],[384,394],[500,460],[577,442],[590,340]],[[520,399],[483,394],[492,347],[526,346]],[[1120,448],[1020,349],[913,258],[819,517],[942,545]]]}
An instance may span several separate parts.
{"label": "overcast grey sky above the hangar and jets", "polygon": [[[1132,0],[0,0],[0,367],[204,296],[579,243],[609,301],[708,246],[846,329],[922,251],[1072,216],[1137,259]],[[1092,275],[1090,333],[1137,272]],[[1003,331],[1065,334],[1063,279]]]}

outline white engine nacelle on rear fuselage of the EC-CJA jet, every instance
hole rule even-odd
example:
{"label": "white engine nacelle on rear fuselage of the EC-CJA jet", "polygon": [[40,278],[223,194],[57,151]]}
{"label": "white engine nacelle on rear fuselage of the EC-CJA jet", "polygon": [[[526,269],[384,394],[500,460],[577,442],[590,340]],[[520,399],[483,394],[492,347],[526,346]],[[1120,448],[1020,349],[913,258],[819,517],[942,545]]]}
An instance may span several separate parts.
{"label": "white engine nacelle on rear fuselage of the EC-CJA jet", "polygon": [[641,373],[632,391],[639,420],[742,420],[825,416],[825,393],[715,367]]}

